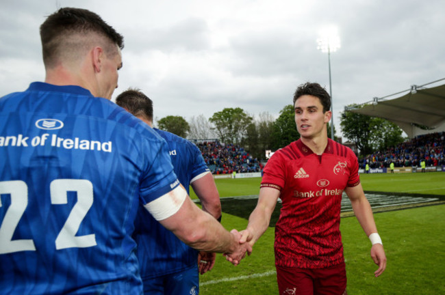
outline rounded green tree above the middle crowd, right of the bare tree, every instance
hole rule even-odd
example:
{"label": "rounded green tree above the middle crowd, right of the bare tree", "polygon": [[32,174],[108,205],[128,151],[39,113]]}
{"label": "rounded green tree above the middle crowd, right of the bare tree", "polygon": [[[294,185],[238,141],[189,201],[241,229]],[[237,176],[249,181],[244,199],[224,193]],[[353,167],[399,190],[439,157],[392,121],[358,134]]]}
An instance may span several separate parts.
{"label": "rounded green tree above the middle crowd, right of the bare tree", "polygon": [[209,118],[215,126],[215,131],[223,143],[239,144],[246,137],[247,127],[253,118],[240,108],[226,108],[216,112]]}

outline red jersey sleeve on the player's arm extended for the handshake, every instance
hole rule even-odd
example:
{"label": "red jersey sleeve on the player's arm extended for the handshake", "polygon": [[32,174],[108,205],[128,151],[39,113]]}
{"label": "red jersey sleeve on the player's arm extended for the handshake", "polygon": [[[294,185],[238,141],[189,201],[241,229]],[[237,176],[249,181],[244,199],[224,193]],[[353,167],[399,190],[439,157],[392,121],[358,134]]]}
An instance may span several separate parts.
{"label": "red jersey sleeve on the player's arm extended for the handshake", "polygon": [[279,151],[270,157],[263,172],[260,187],[271,187],[281,191],[285,184],[285,164]]}

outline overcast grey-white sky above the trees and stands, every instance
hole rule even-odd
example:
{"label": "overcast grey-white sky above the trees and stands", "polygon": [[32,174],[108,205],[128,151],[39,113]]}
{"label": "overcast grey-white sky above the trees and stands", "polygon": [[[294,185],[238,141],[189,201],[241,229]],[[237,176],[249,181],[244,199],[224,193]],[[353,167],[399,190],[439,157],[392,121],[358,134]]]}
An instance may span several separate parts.
{"label": "overcast grey-white sky above the trees and stands", "polygon": [[316,40],[330,25],[341,40],[331,53],[337,134],[346,105],[445,78],[444,0],[1,0],[0,96],[44,80],[38,27],[60,7],[92,10],[123,34],[113,100],[138,87],[157,119],[236,107],[277,117],[301,83],[329,92]]}

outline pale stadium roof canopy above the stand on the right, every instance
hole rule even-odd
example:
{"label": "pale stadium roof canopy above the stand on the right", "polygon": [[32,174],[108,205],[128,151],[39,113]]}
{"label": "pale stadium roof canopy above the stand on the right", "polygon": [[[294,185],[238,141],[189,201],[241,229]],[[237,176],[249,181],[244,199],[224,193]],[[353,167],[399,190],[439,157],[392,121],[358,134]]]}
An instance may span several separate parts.
{"label": "pale stadium roof canopy above the stand on the right", "polygon": [[[409,138],[431,132],[445,131],[445,85],[426,88],[424,86],[442,81],[440,79],[424,85],[412,85],[410,89],[383,98],[374,98],[345,111],[381,117],[397,124]],[[405,94],[404,94],[405,93]],[[402,96],[387,99],[390,96]],[[424,130],[416,126],[427,126]]]}

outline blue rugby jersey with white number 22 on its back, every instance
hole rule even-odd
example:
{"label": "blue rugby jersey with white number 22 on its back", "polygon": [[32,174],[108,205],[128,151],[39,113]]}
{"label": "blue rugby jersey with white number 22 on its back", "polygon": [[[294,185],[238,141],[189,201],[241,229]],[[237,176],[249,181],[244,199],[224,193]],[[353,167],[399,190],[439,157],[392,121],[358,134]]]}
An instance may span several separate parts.
{"label": "blue rugby jersey with white number 22 on its back", "polygon": [[164,139],[84,88],[31,83],[0,98],[0,167],[0,294],[142,293],[136,212],[178,185]]}

